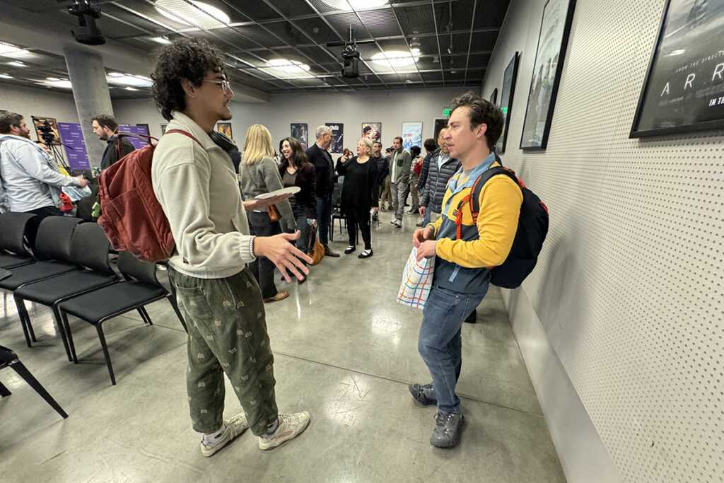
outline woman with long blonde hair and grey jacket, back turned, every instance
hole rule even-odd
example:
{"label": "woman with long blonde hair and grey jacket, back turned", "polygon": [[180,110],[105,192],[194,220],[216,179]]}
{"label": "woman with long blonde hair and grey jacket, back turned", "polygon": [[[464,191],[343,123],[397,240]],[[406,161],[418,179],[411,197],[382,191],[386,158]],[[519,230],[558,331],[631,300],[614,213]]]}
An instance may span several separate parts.
{"label": "woman with long blonde hair and grey jacket, back turned", "polygon": [[[246,201],[253,200],[258,195],[284,188],[277,162],[274,161],[271,134],[261,124],[252,125],[246,131],[239,174],[241,192]],[[277,203],[277,209],[282,214],[279,222],[272,222],[266,209],[249,211],[251,234],[259,237],[277,235],[282,232],[280,224],[285,227],[285,231],[293,232],[297,223],[289,201],[284,200]],[[261,297],[264,298],[265,303],[281,301],[289,296],[288,292],[279,292],[277,286],[274,285],[274,263],[271,260],[260,256],[249,267],[261,288]]]}

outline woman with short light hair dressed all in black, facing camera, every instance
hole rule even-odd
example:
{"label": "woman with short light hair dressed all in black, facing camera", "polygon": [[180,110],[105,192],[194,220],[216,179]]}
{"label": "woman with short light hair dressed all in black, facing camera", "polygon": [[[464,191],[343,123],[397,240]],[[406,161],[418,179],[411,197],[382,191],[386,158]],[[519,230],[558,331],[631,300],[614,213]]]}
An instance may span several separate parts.
{"label": "woman with short light hair dressed all in black, facing camera", "polygon": [[342,211],[347,216],[347,233],[350,238],[350,245],[345,248],[345,253],[355,251],[355,235],[357,226],[362,232],[364,240],[364,251],[358,255],[360,259],[372,256],[372,240],[369,230],[370,209],[377,212],[377,196],[374,185],[377,180],[377,164],[370,161],[373,151],[371,140],[362,138],[357,143],[357,156],[346,159],[342,157],[337,161],[337,173],[344,175],[345,182],[342,184]]}

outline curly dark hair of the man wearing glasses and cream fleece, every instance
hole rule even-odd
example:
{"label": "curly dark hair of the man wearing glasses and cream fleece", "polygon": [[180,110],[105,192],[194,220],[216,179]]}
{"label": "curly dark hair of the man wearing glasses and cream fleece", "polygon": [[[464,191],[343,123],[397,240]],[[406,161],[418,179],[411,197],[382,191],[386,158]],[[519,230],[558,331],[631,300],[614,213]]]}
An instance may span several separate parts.
{"label": "curly dark hair of the man wearing glasses and cream fleece", "polygon": [[182,38],[161,48],[151,73],[151,93],[161,116],[170,121],[173,110],[186,109],[182,79],[198,87],[209,71],[226,75],[224,54],[204,38]]}

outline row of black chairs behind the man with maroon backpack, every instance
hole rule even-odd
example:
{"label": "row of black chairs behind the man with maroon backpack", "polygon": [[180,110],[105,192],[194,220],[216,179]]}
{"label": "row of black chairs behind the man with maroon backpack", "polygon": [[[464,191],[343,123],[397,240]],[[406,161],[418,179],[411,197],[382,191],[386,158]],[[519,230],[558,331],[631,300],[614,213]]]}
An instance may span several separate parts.
{"label": "row of black chairs behind the man with maroon backpack", "polygon": [[28,347],[36,342],[25,301],[49,306],[69,361],[77,364],[68,315],[96,327],[111,384],[116,380],[103,323],[136,310],[153,324],[145,306],[166,298],[186,329],[175,296],[156,278],[156,264],[138,261],[127,252],[118,254],[120,277],[109,263],[111,246],[96,223],[71,217],[48,217],[38,227],[32,253],[23,234],[32,215],[0,214],[0,269],[8,277],[0,288],[13,293]]}

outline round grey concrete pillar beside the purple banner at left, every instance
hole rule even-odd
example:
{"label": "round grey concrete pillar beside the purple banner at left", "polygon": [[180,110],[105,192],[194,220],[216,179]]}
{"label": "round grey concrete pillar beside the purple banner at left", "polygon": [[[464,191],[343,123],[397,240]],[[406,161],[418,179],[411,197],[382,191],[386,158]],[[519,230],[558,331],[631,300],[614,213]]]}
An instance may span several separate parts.
{"label": "round grey concrete pillar beside the purple banner at left", "polygon": [[100,167],[106,142],[93,133],[93,117],[98,114],[113,115],[103,59],[93,52],[73,47],[63,49],[63,54],[73,85],[75,109],[83,130],[88,161],[90,166]]}

